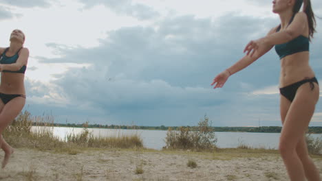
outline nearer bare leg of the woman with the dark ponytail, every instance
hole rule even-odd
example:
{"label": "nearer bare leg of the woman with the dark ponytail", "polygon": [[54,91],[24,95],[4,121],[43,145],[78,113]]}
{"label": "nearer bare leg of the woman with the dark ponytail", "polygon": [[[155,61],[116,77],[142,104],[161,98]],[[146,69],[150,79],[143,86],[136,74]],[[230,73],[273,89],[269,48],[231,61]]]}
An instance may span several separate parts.
{"label": "nearer bare leg of the woman with the dark ponytail", "polygon": [[[305,171],[301,159],[297,154],[297,145],[305,136],[314,108],[319,99],[319,86],[311,90],[310,84],[303,84],[297,90],[297,95],[286,111],[283,129],[279,143],[279,151],[283,158],[290,180],[305,180]],[[281,101],[281,104],[283,102]],[[285,104],[285,103],[284,103]],[[285,111],[286,108],[283,108]],[[281,108],[282,112],[282,108]],[[285,112],[284,112],[285,114]],[[284,115],[281,114],[283,117]]]}

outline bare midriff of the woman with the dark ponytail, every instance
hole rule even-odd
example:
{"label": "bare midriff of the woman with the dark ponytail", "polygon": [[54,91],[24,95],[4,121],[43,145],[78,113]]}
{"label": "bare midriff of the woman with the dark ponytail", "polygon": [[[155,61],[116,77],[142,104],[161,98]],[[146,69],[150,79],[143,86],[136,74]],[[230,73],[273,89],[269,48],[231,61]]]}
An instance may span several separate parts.
{"label": "bare midriff of the woman with the dark ponytail", "polygon": [[279,87],[285,87],[295,82],[314,77],[309,64],[310,53],[303,51],[282,58]]}

